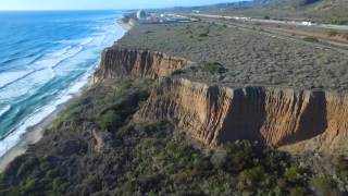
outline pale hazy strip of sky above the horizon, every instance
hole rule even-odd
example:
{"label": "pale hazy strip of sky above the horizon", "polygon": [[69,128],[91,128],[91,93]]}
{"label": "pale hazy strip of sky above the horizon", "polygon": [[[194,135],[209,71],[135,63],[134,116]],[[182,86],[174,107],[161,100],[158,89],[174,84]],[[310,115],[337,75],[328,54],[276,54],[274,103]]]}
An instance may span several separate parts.
{"label": "pale hazy strip of sky above the horizon", "polygon": [[238,0],[0,0],[0,10],[114,10],[213,4]]}

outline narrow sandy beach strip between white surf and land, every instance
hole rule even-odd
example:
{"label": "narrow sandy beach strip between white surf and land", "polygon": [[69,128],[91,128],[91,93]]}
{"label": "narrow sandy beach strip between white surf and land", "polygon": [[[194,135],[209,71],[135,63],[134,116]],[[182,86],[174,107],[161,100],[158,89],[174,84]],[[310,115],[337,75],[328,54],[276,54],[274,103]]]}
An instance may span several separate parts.
{"label": "narrow sandy beach strip between white surf and land", "polygon": [[[117,21],[117,24],[125,30],[125,34],[133,27],[133,25],[123,23],[121,21]],[[44,118],[38,124],[28,127],[25,134],[22,135],[21,140],[2,157],[0,157],[0,173],[2,173],[9,163],[11,163],[16,157],[24,155],[30,145],[38,143],[42,138],[44,132],[52,125],[52,122],[57,119],[57,117],[59,117],[62,111],[64,111],[76,98],[78,98],[92,85],[94,74],[95,72],[88,76],[88,82],[76,94],[72,95],[69,100],[59,105],[52,113]]]}

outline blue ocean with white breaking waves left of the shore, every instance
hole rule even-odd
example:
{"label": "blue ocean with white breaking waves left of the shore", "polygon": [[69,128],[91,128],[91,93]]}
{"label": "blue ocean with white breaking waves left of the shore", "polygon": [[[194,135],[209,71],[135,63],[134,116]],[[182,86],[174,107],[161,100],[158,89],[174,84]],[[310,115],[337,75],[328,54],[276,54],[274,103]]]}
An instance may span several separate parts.
{"label": "blue ocean with white breaking waves left of the shore", "polygon": [[0,157],[87,82],[120,11],[0,12]]}

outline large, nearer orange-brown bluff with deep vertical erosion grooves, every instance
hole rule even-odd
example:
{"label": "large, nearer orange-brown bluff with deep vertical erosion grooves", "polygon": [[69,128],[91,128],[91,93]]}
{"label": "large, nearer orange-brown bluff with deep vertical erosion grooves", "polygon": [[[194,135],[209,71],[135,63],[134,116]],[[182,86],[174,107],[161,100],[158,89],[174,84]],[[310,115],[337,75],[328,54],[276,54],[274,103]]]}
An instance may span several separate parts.
{"label": "large, nearer orange-brown bluff with deep vertical erosion grooves", "polygon": [[348,97],[324,91],[229,88],[167,78],[135,119],[167,118],[211,147],[254,139],[290,151],[335,151],[345,148],[348,138]]}

